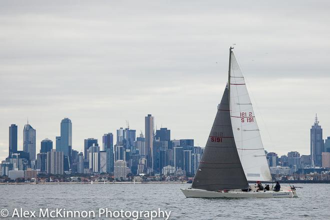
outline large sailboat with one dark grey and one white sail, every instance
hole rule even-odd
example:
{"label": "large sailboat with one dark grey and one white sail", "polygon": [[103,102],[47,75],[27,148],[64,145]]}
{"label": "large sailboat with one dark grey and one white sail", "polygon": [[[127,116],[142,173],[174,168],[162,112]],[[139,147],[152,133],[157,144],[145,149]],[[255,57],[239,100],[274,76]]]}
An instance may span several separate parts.
{"label": "large sailboat with one dark grey and one white sail", "polygon": [[186,197],[297,197],[294,187],[252,190],[249,181],[271,182],[245,80],[229,48],[228,82]]}

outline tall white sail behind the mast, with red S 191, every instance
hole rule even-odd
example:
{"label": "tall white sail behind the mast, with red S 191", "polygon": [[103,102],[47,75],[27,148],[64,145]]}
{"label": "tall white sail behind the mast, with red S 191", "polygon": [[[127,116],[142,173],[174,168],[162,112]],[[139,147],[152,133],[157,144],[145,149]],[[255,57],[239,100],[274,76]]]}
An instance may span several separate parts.
{"label": "tall white sail behind the mast, with red S 191", "polygon": [[229,102],[232,131],[240,162],[249,181],[271,181],[260,132],[242,72],[230,51]]}

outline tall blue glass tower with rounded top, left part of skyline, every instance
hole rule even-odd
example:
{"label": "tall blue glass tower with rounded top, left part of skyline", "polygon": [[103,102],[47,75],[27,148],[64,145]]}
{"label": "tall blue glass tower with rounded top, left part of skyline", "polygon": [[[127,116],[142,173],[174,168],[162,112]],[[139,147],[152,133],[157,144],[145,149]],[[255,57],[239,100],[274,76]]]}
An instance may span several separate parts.
{"label": "tall blue glass tower with rounded top, left part of skyline", "polygon": [[64,156],[70,156],[72,149],[72,123],[67,117],[60,122],[60,147],[56,151],[62,151]]}

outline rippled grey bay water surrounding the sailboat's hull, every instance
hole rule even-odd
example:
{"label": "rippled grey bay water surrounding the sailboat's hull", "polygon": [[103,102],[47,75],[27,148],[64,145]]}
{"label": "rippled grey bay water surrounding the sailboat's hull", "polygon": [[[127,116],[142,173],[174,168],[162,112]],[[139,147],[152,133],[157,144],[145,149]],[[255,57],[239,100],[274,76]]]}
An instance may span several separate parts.
{"label": "rippled grey bay water surrounding the sailboat's hull", "polygon": [[26,210],[65,208],[87,211],[161,208],[171,211],[169,219],[330,219],[330,184],[295,184],[303,186],[297,189],[298,198],[262,199],[185,198],[179,189],[189,185],[0,185],[0,209],[6,208],[11,213],[20,207]]}

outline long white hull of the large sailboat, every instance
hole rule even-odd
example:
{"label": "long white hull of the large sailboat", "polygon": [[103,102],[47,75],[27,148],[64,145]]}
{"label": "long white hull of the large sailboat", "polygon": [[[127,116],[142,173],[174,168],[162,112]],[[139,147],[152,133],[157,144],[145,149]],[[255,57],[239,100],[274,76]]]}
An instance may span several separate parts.
{"label": "long white hull of the large sailboat", "polygon": [[283,189],[279,191],[208,191],[197,188],[181,188],[185,197],[192,198],[292,198],[298,197],[295,190]]}

